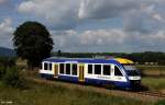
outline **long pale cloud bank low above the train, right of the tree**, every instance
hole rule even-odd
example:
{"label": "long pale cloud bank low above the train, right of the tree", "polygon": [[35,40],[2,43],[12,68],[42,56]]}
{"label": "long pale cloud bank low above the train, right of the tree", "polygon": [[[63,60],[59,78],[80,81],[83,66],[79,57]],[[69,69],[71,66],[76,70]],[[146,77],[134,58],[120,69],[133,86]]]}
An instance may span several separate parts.
{"label": "long pale cloud bank low above the train, right of the tree", "polygon": [[[92,48],[101,49],[102,46],[123,44],[125,35],[120,30],[97,30],[97,31],[65,31],[65,35],[52,33],[54,42],[59,49],[65,51],[92,51]],[[55,49],[58,49],[55,48]],[[88,50],[87,50],[88,49]],[[95,50],[95,51],[98,51]],[[105,50],[102,50],[105,51]]]}

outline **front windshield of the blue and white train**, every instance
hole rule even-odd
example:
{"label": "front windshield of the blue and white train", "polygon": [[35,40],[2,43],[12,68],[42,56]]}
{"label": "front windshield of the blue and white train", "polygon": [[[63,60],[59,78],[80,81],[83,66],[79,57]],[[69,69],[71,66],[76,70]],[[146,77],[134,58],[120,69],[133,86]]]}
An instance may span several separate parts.
{"label": "front windshield of the blue and white train", "polygon": [[140,72],[138,71],[138,69],[133,65],[125,65],[123,67],[124,67],[125,71],[127,71],[128,75],[130,75],[130,77],[140,75]]}

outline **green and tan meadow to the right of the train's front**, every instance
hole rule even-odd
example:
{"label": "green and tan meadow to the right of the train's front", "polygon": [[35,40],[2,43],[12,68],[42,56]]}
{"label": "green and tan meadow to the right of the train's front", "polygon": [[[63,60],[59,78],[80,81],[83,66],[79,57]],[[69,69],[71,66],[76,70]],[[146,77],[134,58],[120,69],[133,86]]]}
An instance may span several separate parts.
{"label": "green and tan meadow to the right of the train's front", "polygon": [[142,84],[165,94],[165,66],[136,66],[142,72]]}

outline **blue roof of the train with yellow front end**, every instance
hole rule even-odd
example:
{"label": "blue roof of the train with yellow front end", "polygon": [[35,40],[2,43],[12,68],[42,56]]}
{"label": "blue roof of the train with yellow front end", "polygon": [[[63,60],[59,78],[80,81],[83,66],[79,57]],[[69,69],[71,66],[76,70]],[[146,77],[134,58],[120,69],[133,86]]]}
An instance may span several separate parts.
{"label": "blue roof of the train with yellow front end", "polygon": [[51,62],[82,62],[82,63],[134,63],[132,60],[125,58],[108,58],[108,59],[97,59],[97,58],[55,58],[51,57],[44,59],[43,61],[51,61]]}

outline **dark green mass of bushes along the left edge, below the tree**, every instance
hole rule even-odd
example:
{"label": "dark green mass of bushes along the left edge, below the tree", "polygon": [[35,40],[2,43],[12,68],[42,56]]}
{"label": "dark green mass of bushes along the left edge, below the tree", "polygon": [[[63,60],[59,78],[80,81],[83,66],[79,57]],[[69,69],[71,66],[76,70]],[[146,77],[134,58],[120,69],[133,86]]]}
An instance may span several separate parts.
{"label": "dark green mass of bushes along the left edge, below the tree", "polygon": [[11,88],[28,88],[21,70],[15,66],[15,58],[0,58],[0,82]]}

